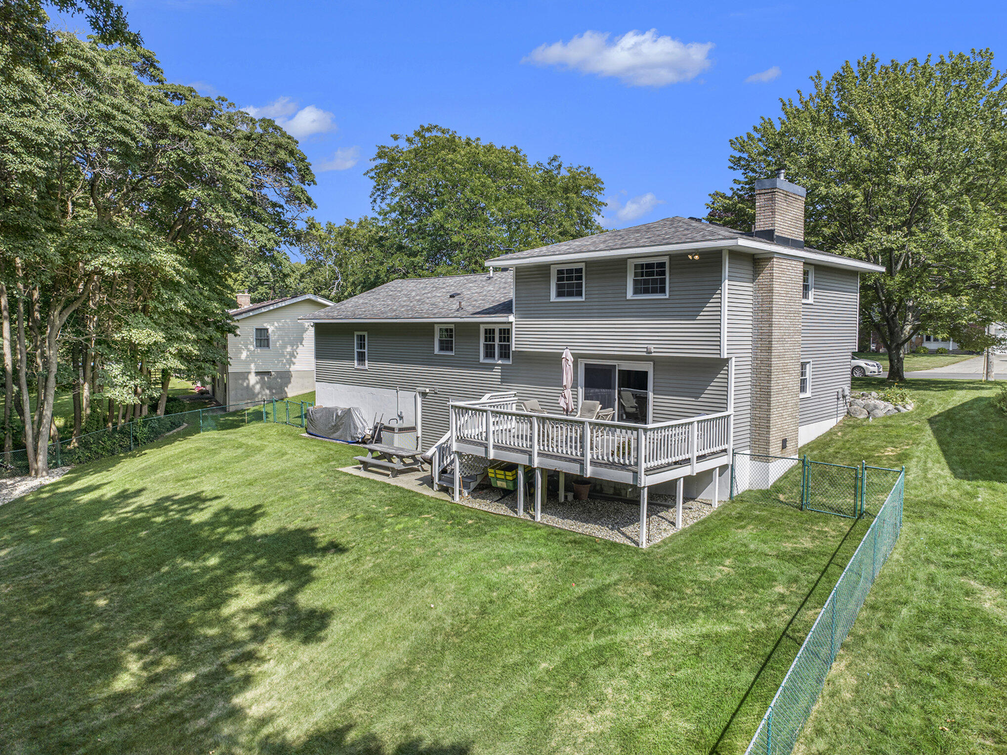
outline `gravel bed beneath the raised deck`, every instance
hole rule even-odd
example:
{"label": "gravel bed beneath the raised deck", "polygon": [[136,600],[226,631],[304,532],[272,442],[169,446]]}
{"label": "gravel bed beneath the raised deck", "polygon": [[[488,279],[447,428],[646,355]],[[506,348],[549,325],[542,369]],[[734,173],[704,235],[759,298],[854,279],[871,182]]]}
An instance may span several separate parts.
{"label": "gravel bed beneath the raised deck", "polygon": [[[501,497],[501,494],[502,497]],[[468,497],[459,501],[494,514],[518,516],[518,494],[507,493],[496,488],[476,488]],[[534,511],[525,501],[526,519],[534,519]],[[650,503],[663,503],[672,508],[648,506],[648,544],[659,542],[675,532],[675,497],[651,494]],[[698,522],[713,511],[707,501],[686,500],[682,505],[682,527]],[[639,506],[620,501],[605,501],[589,498],[586,501],[566,501],[560,503],[556,496],[549,496],[542,505],[542,523],[551,524],[573,532],[603,537],[626,545],[639,544]]]}

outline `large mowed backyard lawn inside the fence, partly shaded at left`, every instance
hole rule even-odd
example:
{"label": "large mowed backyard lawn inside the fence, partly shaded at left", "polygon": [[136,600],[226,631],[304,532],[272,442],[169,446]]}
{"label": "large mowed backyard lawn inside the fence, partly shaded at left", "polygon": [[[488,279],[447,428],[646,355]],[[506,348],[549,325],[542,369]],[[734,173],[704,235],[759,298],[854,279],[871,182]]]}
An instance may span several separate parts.
{"label": "large mowed backyard lawn inside the fence, partly shaded at left", "polygon": [[863,523],[732,503],[639,550],[254,423],[0,506],[0,751],[740,753]]}

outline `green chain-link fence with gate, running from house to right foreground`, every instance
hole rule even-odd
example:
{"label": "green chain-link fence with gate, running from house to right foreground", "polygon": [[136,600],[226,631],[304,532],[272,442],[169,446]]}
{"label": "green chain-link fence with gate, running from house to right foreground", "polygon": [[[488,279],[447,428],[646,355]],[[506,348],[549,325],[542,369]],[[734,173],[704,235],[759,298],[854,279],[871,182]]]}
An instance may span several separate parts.
{"label": "green chain-link fence with gate, running from house to right foreground", "polygon": [[[904,467],[890,470],[866,464],[858,468],[807,459],[796,461],[799,463],[795,463],[780,478],[769,482],[766,490],[771,490],[786,474],[800,470],[803,508],[840,516],[877,513],[805,638],[752,737],[746,755],[786,755],[794,749],[825,685],[829,668],[902,528]],[[782,489],[785,492],[790,487],[793,482],[784,483]],[[762,490],[753,491],[756,501],[762,493]],[[746,500],[749,497],[746,495]]]}

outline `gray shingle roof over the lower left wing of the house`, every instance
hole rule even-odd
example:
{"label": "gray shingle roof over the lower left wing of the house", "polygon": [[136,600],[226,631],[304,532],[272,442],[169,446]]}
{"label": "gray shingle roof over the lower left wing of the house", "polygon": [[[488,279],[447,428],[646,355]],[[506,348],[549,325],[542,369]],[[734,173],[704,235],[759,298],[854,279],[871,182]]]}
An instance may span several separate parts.
{"label": "gray shingle roof over the lower left wing of the house", "polygon": [[[307,316],[309,320],[477,320],[514,311],[514,272],[400,278]],[[458,295],[451,296],[452,293]]]}

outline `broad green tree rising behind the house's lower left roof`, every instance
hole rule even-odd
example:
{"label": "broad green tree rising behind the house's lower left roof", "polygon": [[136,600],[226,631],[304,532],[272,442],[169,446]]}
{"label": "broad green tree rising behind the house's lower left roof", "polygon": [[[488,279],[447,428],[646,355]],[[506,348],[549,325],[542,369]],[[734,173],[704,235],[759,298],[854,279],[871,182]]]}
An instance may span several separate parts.
{"label": "broad green tree rising behind the house's lower left roof", "polygon": [[367,175],[396,273],[476,272],[505,250],[601,231],[604,185],[588,167],[558,156],[532,164],[518,147],[435,125],[392,139]]}

